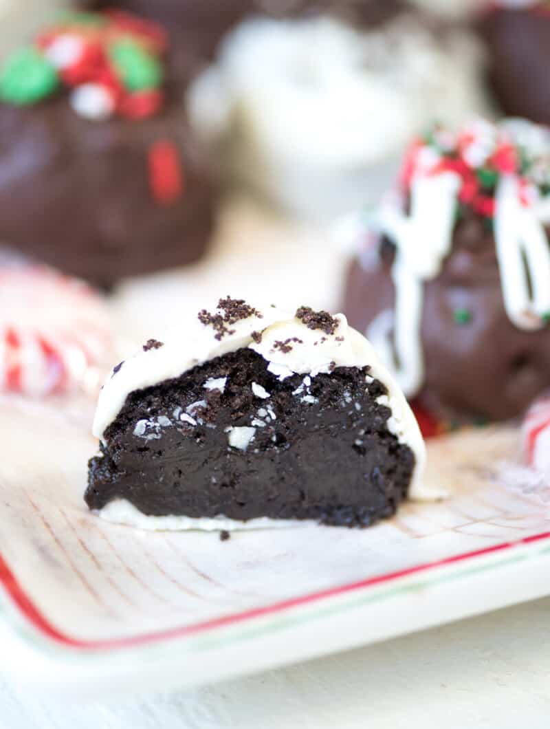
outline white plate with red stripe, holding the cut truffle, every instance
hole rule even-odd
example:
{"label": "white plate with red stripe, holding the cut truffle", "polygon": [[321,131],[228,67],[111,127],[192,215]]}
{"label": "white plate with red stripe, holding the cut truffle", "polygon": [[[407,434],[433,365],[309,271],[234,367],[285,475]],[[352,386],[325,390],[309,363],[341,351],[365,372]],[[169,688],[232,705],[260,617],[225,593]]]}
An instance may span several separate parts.
{"label": "white plate with red stripe, holding the cut truffle", "polygon": [[550,490],[514,429],[431,444],[446,502],[221,542],[90,515],[88,416],[0,399],[0,669],[50,690],[211,682],[550,593]]}

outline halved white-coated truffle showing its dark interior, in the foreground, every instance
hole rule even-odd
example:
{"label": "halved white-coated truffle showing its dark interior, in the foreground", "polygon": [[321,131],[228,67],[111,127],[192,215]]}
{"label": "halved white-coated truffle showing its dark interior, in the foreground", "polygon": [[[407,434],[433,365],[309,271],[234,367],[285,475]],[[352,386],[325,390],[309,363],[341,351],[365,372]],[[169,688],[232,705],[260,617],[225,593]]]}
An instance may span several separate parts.
{"label": "halved white-coated truffle showing its dark interior, in the foreground", "polygon": [[148,529],[368,526],[419,490],[425,455],[403,394],[344,316],[230,297],[125,359],[95,434],[87,505]]}

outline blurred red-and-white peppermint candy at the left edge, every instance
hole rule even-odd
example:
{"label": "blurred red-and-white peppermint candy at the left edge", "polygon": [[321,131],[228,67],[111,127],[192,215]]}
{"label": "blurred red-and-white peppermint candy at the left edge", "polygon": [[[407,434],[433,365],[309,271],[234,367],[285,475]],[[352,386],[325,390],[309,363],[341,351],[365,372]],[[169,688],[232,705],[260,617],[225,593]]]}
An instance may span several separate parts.
{"label": "blurred red-and-white peppermint candy at the left edge", "polygon": [[0,266],[0,391],[97,391],[112,351],[106,307],[87,284],[44,265]]}

